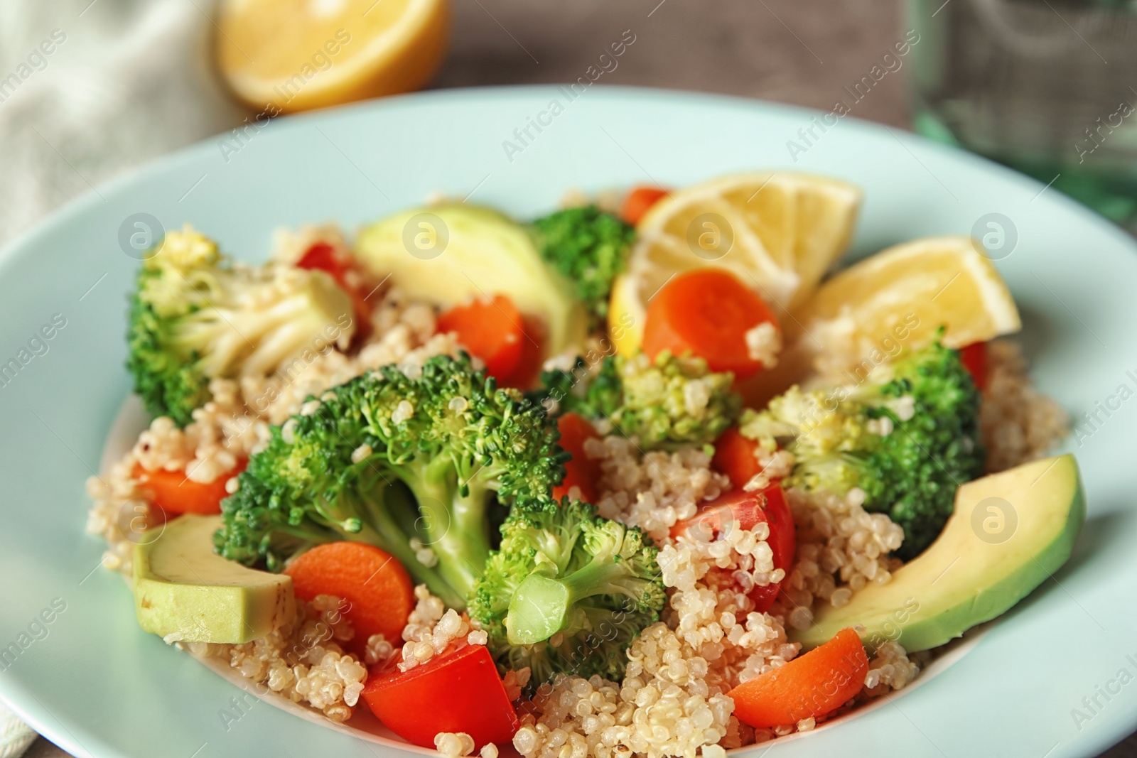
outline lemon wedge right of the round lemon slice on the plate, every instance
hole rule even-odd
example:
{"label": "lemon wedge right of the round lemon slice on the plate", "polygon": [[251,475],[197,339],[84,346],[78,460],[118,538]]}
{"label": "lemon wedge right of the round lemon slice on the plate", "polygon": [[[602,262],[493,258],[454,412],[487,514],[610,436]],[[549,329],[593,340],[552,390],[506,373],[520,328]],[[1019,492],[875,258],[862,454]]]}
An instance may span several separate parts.
{"label": "lemon wedge right of the round lemon slice on the plate", "polygon": [[865,258],[825,282],[798,322],[823,373],[923,347],[940,326],[951,348],[1022,328],[1003,278],[966,236],[915,240]]}

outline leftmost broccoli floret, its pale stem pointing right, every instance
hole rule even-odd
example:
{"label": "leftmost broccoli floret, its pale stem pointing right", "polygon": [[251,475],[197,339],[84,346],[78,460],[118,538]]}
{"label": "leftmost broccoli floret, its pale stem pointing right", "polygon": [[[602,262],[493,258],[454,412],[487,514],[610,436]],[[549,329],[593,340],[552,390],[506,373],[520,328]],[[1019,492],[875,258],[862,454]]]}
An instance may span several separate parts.
{"label": "leftmost broccoli floret, its pale stem pointing right", "polygon": [[131,299],[126,367],[156,416],[179,426],[209,400],[209,380],[267,376],[309,350],[346,348],[351,300],[323,272],[230,260],[202,234],[169,232]]}

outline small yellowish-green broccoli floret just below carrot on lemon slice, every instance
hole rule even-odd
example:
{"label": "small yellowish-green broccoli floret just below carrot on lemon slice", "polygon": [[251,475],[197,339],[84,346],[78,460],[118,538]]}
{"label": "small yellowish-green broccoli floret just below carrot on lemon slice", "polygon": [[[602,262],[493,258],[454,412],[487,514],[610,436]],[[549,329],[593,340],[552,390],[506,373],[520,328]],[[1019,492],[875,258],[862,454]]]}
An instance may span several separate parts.
{"label": "small yellowish-green broccoli floret just below carrot on lemon slice", "polygon": [[708,444],[737,419],[741,397],[731,390],[733,375],[707,369],[702,358],[677,358],[667,351],[655,360],[609,356],[590,376],[583,359],[570,370],[541,374],[541,389],[530,393],[557,414],[576,413],[608,420],[640,447],[674,449]]}

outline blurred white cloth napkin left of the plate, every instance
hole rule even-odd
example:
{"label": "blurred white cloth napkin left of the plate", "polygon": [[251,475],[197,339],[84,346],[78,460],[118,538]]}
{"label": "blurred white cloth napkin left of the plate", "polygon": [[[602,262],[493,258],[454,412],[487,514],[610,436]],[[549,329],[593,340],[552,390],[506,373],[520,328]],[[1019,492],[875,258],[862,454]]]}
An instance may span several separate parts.
{"label": "blurred white cloth napkin left of the plate", "polygon": [[[213,72],[213,13],[211,0],[0,2],[0,244],[248,115]],[[34,740],[0,703],[0,758]]]}

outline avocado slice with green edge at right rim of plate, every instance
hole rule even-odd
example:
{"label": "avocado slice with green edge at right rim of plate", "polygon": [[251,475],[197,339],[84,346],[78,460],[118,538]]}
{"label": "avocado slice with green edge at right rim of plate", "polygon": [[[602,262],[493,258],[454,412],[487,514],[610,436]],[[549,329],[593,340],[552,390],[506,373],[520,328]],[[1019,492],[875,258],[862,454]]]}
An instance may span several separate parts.
{"label": "avocado slice with green edge at right rim of plate", "polygon": [[870,651],[948,642],[1010,609],[1070,557],[1086,520],[1072,455],[1023,464],[960,486],[955,511],[923,553],[840,608],[825,606],[789,639],[805,649],[857,627]]}

